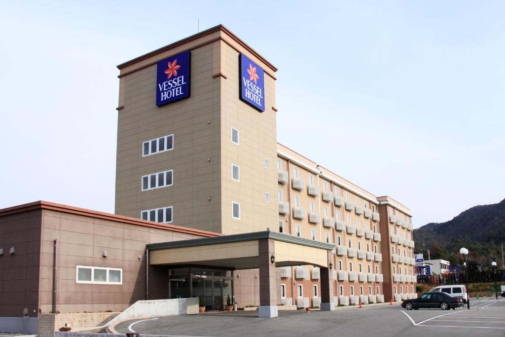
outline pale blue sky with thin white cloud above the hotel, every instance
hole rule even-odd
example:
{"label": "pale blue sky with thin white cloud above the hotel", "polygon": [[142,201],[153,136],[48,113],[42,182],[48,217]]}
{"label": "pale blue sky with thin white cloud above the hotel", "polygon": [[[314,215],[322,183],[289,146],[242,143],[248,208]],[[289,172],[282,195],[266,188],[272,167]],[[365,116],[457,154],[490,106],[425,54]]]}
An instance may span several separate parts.
{"label": "pale blue sky with thin white cloud above the hotel", "polygon": [[[114,213],[116,66],[223,24],[274,64],[277,138],[415,227],[505,198],[505,2],[0,2],[0,208]],[[199,25],[198,25],[199,22]]]}

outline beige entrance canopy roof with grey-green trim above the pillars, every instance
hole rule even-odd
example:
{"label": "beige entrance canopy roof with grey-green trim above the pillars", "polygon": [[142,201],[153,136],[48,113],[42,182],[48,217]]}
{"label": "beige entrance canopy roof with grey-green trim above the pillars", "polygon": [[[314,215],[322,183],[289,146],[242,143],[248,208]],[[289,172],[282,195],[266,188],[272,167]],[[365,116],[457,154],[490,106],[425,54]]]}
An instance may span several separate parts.
{"label": "beige entrance canopy roof with grey-green trim above the pillars", "polygon": [[151,265],[199,265],[232,269],[260,267],[269,254],[275,267],[314,265],[328,268],[335,245],[263,231],[147,245]]}

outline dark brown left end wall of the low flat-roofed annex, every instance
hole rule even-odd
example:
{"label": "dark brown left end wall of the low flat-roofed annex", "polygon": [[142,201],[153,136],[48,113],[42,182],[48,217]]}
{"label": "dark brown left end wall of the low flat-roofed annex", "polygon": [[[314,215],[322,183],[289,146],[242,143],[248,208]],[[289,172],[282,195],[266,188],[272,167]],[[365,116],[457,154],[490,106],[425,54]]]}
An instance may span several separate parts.
{"label": "dark brown left end wall of the low flat-roofed annex", "polygon": [[[29,316],[37,316],[40,216],[40,210],[33,210],[0,217],[0,248],[4,250],[0,256],[0,316],[22,317],[25,308]],[[10,254],[11,248],[14,254]]]}

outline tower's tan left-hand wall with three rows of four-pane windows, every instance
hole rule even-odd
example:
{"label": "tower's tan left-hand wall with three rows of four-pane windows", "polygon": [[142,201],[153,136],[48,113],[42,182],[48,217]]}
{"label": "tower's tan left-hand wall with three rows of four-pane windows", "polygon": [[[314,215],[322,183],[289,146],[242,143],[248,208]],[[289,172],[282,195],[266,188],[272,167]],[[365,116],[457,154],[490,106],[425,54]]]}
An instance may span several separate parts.
{"label": "tower's tan left-hand wall with three rows of four-pane windows", "polygon": [[[139,218],[142,210],[173,206],[174,224],[221,231],[221,82],[212,76],[219,43],[191,49],[188,99],[156,106],[156,64],[121,78],[116,214]],[[172,151],[142,157],[143,141],[172,133]],[[141,191],[141,176],[169,169],[173,186]]]}

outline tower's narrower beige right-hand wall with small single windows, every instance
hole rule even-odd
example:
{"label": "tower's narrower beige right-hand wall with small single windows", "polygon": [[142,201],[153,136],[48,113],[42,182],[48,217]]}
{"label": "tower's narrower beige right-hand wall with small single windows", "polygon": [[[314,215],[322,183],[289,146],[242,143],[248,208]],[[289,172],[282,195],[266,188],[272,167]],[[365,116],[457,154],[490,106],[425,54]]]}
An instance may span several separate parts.
{"label": "tower's narrower beige right-hand wall with small single windows", "polygon": [[[266,109],[259,112],[239,99],[239,52],[223,42],[221,53],[222,72],[227,76],[221,77],[222,233],[262,231],[277,226],[275,80],[265,73]],[[238,146],[231,142],[231,127],[240,132]],[[231,179],[232,163],[240,167],[240,182]],[[270,203],[265,202],[267,191]],[[240,203],[240,220],[232,218],[232,202]]]}

